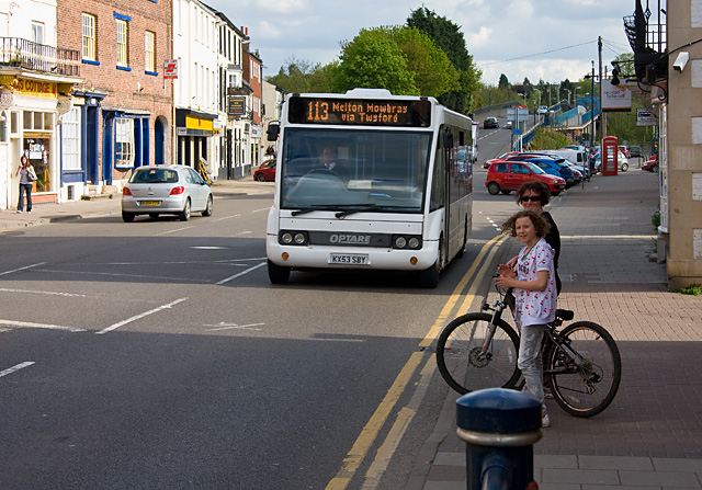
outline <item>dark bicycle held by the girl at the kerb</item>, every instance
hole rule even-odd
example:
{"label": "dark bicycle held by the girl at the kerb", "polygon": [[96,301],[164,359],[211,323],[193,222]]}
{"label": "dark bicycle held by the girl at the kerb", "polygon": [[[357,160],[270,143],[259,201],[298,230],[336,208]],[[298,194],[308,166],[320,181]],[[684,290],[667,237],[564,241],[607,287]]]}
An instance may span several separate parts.
{"label": "dark bicycle held by the girl at the kerb", "polygon": [[[500,298],[482,312],[469,312],[451,321],[439,335],[437,363],[449,386],[461,395],[483,388],[521,389],[517,367],[519,337],[501,317],[514,311],[512,288],[497,288]],[[483,311],[491,311],[491,314]],[[600,324],[576,321],[571,310],[557,309],[545,329],[541,346],[544,387],[566,412],[592,417],[614,399],[622,376],[622,362],[612,335]]]}

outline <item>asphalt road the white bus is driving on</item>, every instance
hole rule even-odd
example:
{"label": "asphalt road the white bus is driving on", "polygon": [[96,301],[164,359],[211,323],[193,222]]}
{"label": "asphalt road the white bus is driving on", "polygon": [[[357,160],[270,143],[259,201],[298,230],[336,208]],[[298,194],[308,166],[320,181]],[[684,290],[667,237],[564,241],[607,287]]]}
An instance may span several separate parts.
{"label": "asphalt road the white bus is driving on", "polygon": [[[480,157],[503,137],[484,132]],[[401,489],[446,395],[424,344],[480,301],[472,266],[514,210],[480,163],[473,238],[433,290],[272,286],[272,194],[2,233],[0,488]]]}

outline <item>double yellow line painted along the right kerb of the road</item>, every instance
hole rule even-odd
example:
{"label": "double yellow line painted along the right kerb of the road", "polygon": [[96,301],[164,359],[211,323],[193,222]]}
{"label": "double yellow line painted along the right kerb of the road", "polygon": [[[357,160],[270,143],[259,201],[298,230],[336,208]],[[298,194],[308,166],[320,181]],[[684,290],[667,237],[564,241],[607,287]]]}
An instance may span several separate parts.
{"label": "double yellow line painted along the right kerb of the road", "polygon": [[[490,264],[492,262],[495,254],[506,239],[506,235],[497,236],[492,240],[488,241],[483,247],[483,249],[480,249],[480,252],[473,262],[473,265],[471,265],[471,269],[468,269],[456,287],[453,289],[451,297],[442,308],[439,317],[434,321],[434,324],[419,343],[420,347],[430,346],[431,343],[437,339],[437,337],[439,337],[441,329],[446,323],[449,315],[451,314],[451,311],[453,311],[455,305],[458,303],[463,289],[466,287],[471,278],[476,275],[476,271],[478,271],[480,264],[483,264],[484,262]],[[477,288],[479,287],[479,284],[482,282],[479,280],[484,277],[484,274],[491,274],[491,272],[487,271],[485,267],[479,272],[480,274],[476,275],[473,283],[471,284],[471,287],[465,295],[465,299],[457,310],[457,315],[463,315],[464,312],[466,312],[467,308],[469,308],[469,306],[473,304]],[[399,372],[399,375],[395,378],[393,386],[390,386],[390,388],[387,390],[385,398],[383,398],[383,401],[381,401],[381,404],[375,409],[375,412],[361,431],[359,437],[355,440],[355,443],[351,447],[351,451],[349,451],[349,453],[347,454],[341,468],[327,485],[326,490],[346,490],[349,482],[355,476],[359,467],[365,459],[365,456],[367,455],[372,445],[375,443],[375,440],[385,425],[387,418],[390,415],[390,412],[394,410],[400,396],[407,389],[407,385],[417,372],[417,368],[421,364],[422,358],[424,357],[424,365],[420,373],[421,377],[419,384],[417,385],[417,391],[415,394],[416,396],[411,397],[411,400],[407,407],[403,407],[399,410],[397,420],[390,428],[388,436],[382,444],[376,454],[376,457],[371,463],[370,468],[365,474],[365,479],[362,488],[364,490],[373,490],[376,488],[381,477],[383,476],[383,472],[387,468],[394,451],[399,445],[399,442],[401,441],[406,429],[409,426],[409,423],[415,417],[416,410],[421,402],[421,398],[429,387],[429,379],[431,379],[431,377],[433,376],[433,372],[435,369],[434,357],[431,355],[424,356],[423,352],[415,352],[409,357],[403,369]]]}

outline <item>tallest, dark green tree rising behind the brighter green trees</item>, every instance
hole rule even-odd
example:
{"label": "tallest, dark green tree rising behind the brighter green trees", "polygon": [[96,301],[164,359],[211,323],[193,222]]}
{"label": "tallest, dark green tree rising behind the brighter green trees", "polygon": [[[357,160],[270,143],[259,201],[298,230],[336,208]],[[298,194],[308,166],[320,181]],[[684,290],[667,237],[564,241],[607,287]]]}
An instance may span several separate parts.
{"label": "tallest, dark green tree rising behind the brighter green trees", "polygon": [[454,111],[467,113],[474,103],[473,92],[479,88],[482,72],[473,65],[461,27],[426,7],[412,11],[407,25],[427,33],[461,72],[461,89],[444,93],[439,101]]}

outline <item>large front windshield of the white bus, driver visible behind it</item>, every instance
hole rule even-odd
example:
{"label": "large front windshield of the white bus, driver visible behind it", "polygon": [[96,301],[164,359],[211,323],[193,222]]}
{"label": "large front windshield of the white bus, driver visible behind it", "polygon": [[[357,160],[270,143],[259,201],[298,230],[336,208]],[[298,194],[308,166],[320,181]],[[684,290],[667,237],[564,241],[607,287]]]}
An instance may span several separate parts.
{"label": "large front windshield of the white bus, driver visible behind it", "polygon": [[421,213],[431,130],[287,128],[281,208]]}

